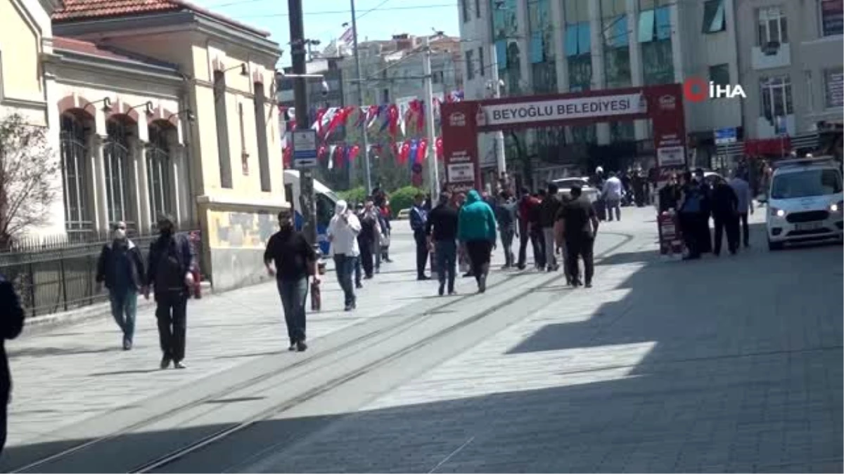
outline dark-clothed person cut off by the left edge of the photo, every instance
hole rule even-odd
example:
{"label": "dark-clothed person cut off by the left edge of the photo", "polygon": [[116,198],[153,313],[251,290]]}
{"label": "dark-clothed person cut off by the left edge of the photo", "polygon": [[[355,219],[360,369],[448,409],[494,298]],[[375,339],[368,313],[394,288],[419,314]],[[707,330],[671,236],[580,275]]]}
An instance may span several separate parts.
{"label": "dark-clothed person cut off by the left edge of the photo", "polygon": [[20,307],[18,294],[14,291],[14,285],[5,277],[0,275],[0,355],[3,365],[0,366],[0,454],[6,445],[6,432],[8,424],[8,402],[12,395],[12,375],[8,368],[8,356],[6,355],[6,341],[14,339],[24,330],[24,309]]}

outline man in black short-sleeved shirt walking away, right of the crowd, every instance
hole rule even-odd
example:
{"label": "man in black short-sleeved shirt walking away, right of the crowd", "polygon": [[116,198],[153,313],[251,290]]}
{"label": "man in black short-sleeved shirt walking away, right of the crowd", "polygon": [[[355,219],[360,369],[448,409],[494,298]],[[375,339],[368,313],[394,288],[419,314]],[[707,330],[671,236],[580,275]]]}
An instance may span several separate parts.
{"label": "man in black short-sleeved shirt walking away, right of the crowd", "polygon": [[[557,218],[562,221],[560,229],[567,254],[565,264],[568,270],[565,273],[571,279],[572,286],[584,284],[586,288],[592,288],[592,276],[595,273],[593,251],[599,221],[592,202],[583,196],[580,186],[571,186],[571,200],[563,204]],[[583,282],[579,277],[579,258],[583,259]]]}

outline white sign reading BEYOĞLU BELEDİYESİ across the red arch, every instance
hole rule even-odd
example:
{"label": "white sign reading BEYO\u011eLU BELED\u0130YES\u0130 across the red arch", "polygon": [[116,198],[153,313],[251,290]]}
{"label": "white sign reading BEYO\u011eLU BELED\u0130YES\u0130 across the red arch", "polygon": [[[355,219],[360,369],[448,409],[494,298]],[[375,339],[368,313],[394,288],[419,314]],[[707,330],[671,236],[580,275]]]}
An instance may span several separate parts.
{"label": "white sign reading BEYO\u011eLU BELED\u0130YES\u0130 across the red arch", "polygon": [[642,114],[647,114],[647,100],[644,94],[633,93],[481,105],[477,121],[483,131],[484,127]]}

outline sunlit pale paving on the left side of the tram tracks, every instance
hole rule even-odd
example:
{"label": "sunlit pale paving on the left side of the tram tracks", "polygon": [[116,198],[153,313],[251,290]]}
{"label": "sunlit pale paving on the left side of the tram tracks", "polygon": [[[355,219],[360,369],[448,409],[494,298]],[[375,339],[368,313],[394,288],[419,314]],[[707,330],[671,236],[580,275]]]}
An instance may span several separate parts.
{"label": "sunlit pale paving on the left side of the tram tracks", "polygon": [[[345,313],[336,278],[333,273],[324,277],[323,310],[308,317],[312,344],[436,292],[436,283],[415,281],[412,236],[400,227],[406,223],[396,224],[394,262],[385,263],[381,274],[365,281],[365,288],[359,290],[359,310]],[[138,310],[135,347],[129,352],[122,351],[122,335],[110,317],[46,332],[24,332],[6,346],[14,380],[7,448],[284,351],[287,337],[280,306],[274,283],[191,300],[189,368],[184,371],[158,370],[161,356],[152,307]]]}

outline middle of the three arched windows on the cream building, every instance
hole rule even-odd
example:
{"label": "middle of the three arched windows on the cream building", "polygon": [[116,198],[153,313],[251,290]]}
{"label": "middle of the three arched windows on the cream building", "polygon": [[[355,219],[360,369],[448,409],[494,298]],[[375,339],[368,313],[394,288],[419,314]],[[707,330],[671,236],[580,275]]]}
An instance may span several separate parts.
{"label": "middle of the three arched windows on the cream building", "polygon": [[131,174],[125,118],[108,121],[106,133],[108,137],[103,147],[103,159],[106,164],[106,203],[109,224],[123,221],[128,227],[134,229],[136,223],[132,218],[132,196],[129,193]]}

